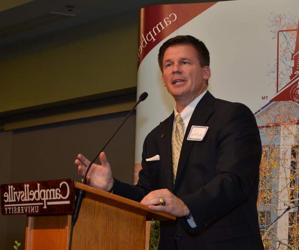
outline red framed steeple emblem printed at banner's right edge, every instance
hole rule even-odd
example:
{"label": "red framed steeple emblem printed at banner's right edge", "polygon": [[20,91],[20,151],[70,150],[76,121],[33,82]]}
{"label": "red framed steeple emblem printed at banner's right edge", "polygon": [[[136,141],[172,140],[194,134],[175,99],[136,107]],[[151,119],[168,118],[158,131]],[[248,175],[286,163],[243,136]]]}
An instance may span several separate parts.
{"label": "red framed steeple emblem printed at banner's right edge", "polygon": [[[297,31],[295,51],[292,53],[291,60],[294,60],[292,74],[290,81],[279,90],[279,35],[281,32]],[[299,102],[299,22],[297,29],[280,30],[277,34],[277,83],[276,95],[270,101],[289,101],[293,100]]]}

